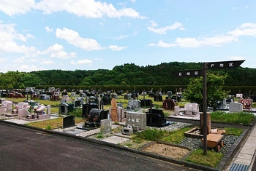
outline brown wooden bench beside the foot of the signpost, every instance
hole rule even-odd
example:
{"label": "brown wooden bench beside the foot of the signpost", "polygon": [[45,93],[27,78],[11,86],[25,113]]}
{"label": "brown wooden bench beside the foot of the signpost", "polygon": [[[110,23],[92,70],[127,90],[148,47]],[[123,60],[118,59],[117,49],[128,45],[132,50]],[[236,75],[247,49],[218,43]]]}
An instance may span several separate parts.
{"label": "brown wooden bench beside the foot of the signpost", "polygon": [[[221,147],[224,146],[222,138],[224,135],[219,134],[208,134],[207,135],[207,147],[215,148],[215,151],[219,151]],[[203,143],[203,138],[202,138]]]}

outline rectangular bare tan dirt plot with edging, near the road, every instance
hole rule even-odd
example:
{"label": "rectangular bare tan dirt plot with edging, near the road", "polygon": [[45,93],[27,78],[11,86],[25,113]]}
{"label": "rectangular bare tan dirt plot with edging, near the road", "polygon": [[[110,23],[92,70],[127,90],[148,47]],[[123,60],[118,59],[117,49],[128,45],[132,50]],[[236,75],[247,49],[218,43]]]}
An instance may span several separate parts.
{"label": "rectangular bare tan dirt plot with edging, near the road", "polygon": [[147,151],[162,156],[167,156],[174,159],[181,159],[190,151],[187,148],[180,148],[176,146],[168,146],[162,143],[155,143],[152,146],[144,148],[143,151]]}

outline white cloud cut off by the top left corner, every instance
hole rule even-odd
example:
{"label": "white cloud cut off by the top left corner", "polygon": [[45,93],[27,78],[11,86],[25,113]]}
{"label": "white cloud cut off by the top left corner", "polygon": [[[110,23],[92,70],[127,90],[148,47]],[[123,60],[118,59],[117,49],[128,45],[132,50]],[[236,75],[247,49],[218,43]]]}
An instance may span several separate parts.
{"label": "white cloud cut off by the top left corner", "polygon": [[0,11],[7,15],[18,15],[29,12],[34,7],[34,0],[1,0]]}

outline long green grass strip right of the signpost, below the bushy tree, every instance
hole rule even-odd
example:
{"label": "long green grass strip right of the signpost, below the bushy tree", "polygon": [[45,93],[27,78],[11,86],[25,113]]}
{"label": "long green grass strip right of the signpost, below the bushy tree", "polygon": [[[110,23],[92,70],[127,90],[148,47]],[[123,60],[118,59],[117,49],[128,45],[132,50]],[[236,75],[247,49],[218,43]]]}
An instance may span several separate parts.
{"label": "long green grass strip right of the signpost, below the bushy tree", "polygon": [[224,111],[211,112],[211,121],[226,122],[231,124],[251,124],[255,119],[255,115],[248,112],[226,113]]}

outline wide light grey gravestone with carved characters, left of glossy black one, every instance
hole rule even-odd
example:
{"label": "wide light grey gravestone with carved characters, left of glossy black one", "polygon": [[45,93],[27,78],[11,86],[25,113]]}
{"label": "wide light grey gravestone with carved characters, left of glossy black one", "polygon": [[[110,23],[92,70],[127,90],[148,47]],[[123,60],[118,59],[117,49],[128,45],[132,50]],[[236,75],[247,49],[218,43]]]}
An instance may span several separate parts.
{"label": "wide light grey gravestone with carved characters, left of glossy black one", "polygon": [[126,124],[130,124],[133,127],[138,127],[139,130],[146,129],[146,114],[133,111],[127,111]]}

